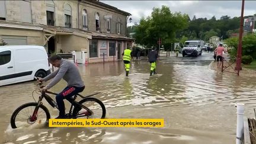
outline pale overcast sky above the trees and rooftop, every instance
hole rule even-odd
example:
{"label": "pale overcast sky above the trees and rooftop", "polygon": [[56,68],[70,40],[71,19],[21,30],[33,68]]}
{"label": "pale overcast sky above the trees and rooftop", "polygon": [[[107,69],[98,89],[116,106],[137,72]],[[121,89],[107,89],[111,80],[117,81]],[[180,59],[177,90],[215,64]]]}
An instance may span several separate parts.
{"label": "pale overcast sky above the trees and rooftop", "polygon": [[[151,15],[153,7],[167,5],[172,12],[180,11],[188,14],[192,19],[212,18],[214,15],[219,19],[222,15],[229,17],[239,17],[241,15],[242,1],[103,1],[105,4],[112,5],[123,11],[132,14],[132,24],[139,23],[140,18]],[[256,14],[256,1],[245,1],[244,15]]]}

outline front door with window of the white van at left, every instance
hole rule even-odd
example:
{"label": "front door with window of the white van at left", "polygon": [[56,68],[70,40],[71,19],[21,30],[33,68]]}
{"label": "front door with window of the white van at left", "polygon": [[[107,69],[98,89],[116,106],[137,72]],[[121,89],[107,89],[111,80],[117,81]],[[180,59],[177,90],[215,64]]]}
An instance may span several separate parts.
{"label": "front door with window of the white van at left", "polygon": [[11,50],[0,51],[0,85],[11,84],[15,81],[13,58]]}

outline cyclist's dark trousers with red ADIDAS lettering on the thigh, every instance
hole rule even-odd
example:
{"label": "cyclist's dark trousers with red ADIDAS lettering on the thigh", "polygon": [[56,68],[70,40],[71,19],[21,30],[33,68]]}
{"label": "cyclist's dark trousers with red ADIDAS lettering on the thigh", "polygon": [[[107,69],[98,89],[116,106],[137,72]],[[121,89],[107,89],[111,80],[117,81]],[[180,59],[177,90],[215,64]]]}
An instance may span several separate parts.
{"label": "cyclist's dark trousers with red ADIDAS lettering on the thigh", "polygon": [[64,99],[68,100],[70,103],[73,101],[73,95],[78,94],[79,92],[84,91],[84,87],[66,87],[62,92],[56,95],[56,102],[59,107],[59,116],[65,116],[65,104]]}

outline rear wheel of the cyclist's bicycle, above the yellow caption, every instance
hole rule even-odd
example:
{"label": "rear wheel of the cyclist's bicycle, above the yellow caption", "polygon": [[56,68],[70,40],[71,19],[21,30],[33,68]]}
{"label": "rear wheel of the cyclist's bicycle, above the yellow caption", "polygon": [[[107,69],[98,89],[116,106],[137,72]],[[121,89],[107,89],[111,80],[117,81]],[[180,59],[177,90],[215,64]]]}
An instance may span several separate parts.
{"label": "rear wheel of the cyclist's bicycle, above the yellow caption", "polygon": [[105,105],[98,100],[97,98],[85,98],[78,102],[79,104],[84,105],[92,113],[89,113],[85,108],[75,107],[73,109],[72,116],[77,119],[104,119],[105,118]]}

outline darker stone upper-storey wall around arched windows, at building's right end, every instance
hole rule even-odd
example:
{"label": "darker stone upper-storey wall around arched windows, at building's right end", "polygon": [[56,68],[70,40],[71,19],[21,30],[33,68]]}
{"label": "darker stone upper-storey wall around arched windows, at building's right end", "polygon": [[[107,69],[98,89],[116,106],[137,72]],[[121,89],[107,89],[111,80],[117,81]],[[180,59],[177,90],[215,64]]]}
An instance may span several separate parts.
{"label": "darker stone upper-storey wall around arched windows, at building's right end", "polygon": [[110,33],[117,33],[116,23],[117,18],[121,20],[121,34],[126,34],[126,15],[118,12],[111,11],[106,8],[97,7],[91,4],[80,3],[79,5],[79,28],[82,28],[82,10],[86,9],[88,17],[88,30],[96,31],[95,14],[96,12],[100,15],[100,28],[102,32],[107,32],[107,20],[104,19],[104,15],[112,15],[110,19]]}

